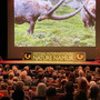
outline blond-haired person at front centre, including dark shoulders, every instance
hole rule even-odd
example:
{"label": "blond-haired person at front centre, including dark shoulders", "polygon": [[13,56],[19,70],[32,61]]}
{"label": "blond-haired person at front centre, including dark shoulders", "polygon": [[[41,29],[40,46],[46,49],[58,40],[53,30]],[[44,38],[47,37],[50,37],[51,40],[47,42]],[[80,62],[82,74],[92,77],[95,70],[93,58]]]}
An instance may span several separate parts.
{"label": "blond-haired person at front centre, including dark shoulders", "polygon": [[46,91],[47,91],[47,86],[43,82],[40,82],[37,87],[36,90],[36,97],[32,97],[31,100],[46,100]]}

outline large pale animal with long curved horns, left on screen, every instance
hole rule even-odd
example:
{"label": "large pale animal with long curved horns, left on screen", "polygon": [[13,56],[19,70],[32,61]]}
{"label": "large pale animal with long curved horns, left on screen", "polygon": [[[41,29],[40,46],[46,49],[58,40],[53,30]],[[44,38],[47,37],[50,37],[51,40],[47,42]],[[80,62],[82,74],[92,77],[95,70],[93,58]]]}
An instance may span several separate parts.
{"label": "large pale animal with long curved horns, left on screen", "polygon": [[14,23],[22,24],[23,22],[29,22],[30,28],[27,30],[27,33],[33,33],[37,20],[63,20],[73,17],[81,10],[81,8],[79,8],[69,14],[54,16],[53,12],[63,3],[63,1],[64,0],[60,0],[53,7],[49,0],[14,0]]}

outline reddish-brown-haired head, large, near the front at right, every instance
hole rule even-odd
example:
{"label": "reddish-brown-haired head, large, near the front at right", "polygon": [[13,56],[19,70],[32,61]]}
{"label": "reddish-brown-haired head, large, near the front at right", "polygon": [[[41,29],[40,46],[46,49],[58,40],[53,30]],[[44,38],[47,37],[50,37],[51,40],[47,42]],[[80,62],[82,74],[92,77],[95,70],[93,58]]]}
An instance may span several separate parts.
{"label": "reddish-brown-haired head, large, near the front at right", "polygon": [[88,81],[86,78],[82,78],[78,82],[78,89],[84,90],[86,92],[88,91]]}

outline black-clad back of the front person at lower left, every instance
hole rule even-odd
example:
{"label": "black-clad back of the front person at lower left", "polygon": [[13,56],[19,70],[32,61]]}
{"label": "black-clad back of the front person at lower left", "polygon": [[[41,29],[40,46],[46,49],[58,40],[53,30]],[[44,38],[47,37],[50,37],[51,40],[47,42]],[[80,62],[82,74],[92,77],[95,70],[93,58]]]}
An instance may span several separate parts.
{"label": "black-clad back of the front person at lower left", "polygon": [[23,100],[24,99],[24,92],[21,89],[14,90],[12,93],[12,99],[13,100]]}

